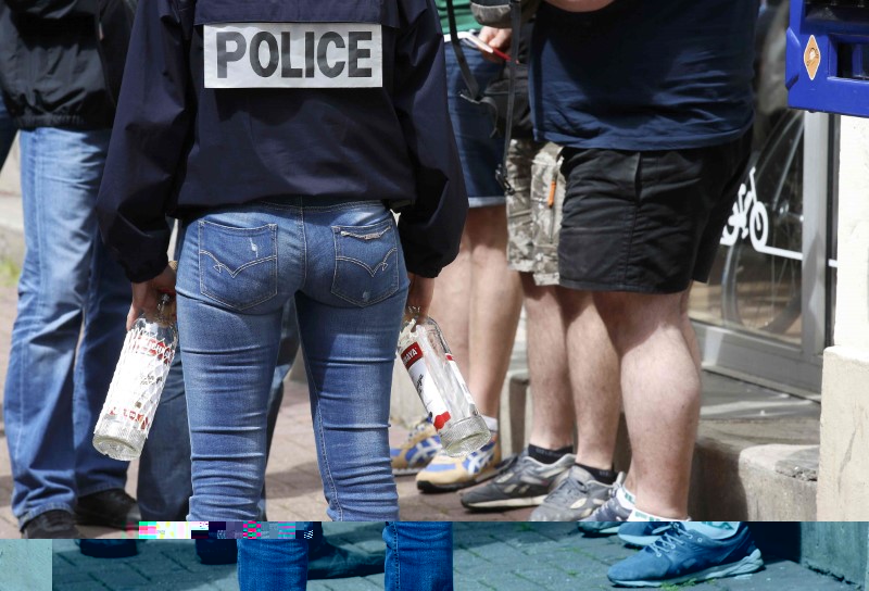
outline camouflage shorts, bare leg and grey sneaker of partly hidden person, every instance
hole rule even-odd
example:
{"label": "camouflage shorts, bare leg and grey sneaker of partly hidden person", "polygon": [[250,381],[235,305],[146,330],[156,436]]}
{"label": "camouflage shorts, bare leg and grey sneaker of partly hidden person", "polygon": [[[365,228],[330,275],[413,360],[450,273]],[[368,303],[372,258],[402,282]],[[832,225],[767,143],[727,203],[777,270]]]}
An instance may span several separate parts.
{"label": "camouflage shorts, bare leg and grey sneaker of partly hidden person", "polygon": [[[507,261],[519,272],[525,294],[533,391],[531,433],[528,447],[511,458],[496,478],[462,495],[462,504],[470,511],[540,505],[567,480],[576,461],[575,412],[559,304],[563,288],[558,286],[558,234],[566,185],[559,173],[559,152],[554,143],[514,139],[507,154],[514,189],[507,196]],[[531,518],[543,508],[536,510]]]}

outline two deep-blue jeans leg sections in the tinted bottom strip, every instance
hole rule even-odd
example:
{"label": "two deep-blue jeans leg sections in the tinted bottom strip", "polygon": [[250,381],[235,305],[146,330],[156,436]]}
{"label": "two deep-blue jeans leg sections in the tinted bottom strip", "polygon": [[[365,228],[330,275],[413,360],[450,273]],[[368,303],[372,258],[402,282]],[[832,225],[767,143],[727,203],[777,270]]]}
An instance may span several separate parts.
{"label": "two deep-blue jeans leg sections in the tinted bottom strip", "polygon": [[[391,521],[387,543],[387,591],[452,591],[453,524]],[[238,582],[241,591],[297,591],[307,581],[304,540],[239,540]]]}

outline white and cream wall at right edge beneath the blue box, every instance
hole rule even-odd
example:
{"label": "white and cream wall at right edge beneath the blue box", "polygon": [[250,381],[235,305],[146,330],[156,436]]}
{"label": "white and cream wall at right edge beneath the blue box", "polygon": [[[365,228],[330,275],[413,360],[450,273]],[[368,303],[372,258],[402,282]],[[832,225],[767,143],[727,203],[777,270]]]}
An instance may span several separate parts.
{"label": "white and cream wall at right edge beneath the blue box", "polygon": [[869,120],[842,117],[834,345],[824,351],[818,519],[869,519]]}

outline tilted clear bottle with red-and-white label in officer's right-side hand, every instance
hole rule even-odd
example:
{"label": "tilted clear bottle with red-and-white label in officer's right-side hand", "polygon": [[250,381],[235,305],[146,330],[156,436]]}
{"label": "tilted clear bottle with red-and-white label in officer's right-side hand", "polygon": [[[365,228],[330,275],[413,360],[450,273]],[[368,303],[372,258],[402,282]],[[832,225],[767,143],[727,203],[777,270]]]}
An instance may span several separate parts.
{"label": "tilted clear bottle with red-and-white label in officer's right-side hand", "polygon": [[462,379],[438,324],[408,311],[399,337],[399,356],[411,376],[428,419],[453,456],[482,448],[492,437]]}

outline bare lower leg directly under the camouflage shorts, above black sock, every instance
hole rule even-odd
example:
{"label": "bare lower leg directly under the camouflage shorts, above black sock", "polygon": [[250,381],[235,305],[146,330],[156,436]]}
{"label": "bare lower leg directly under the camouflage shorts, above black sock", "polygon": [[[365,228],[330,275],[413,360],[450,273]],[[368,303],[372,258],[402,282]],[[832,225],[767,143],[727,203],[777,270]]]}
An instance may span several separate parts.
{"label": "bare lower leg directly under the camouflage shorts, above black sock", "polygon": [[540,287],[520,273],[528,328],[528,373],[533,393],[529,442],[557,450],[574,443],[574,401],[567,372],[565,325],[557,286]]}

